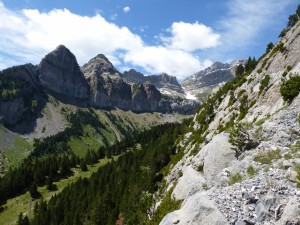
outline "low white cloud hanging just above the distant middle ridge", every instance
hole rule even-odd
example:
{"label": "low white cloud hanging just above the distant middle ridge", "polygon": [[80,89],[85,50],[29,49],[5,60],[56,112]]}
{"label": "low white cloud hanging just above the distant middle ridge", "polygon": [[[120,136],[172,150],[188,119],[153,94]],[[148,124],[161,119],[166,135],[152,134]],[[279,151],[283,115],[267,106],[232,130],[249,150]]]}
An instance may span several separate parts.
{"label": "low white cloud hanging just above the distant middle ridge", "polygon": [[150,74],[166,72],[178,79],[211,65],[211,61],[201,63],[198,58],[182,50],[168,49],[163,46],[148,46],[125,55],[125,62],[142,66]]}

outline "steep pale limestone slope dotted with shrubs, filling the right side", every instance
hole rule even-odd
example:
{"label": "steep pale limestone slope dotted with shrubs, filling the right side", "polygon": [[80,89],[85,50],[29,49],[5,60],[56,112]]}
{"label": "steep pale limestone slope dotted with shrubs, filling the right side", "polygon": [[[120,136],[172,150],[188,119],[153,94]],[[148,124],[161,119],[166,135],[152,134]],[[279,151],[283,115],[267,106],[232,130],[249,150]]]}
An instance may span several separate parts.
{"label": "steep pale limestone slope dotted with shrubs, filling the right side", "polygon": [[[300,75],[299,34],[300,22],[236,87],[212,97],[211,109],[200,108],[178,145],[185,155],[165,178],[181,209],[160,225],[300,223],[300,95],[285,102],[280,93],[285,80]],[[224,128],[237,124],[256,142],[238,157]]]}

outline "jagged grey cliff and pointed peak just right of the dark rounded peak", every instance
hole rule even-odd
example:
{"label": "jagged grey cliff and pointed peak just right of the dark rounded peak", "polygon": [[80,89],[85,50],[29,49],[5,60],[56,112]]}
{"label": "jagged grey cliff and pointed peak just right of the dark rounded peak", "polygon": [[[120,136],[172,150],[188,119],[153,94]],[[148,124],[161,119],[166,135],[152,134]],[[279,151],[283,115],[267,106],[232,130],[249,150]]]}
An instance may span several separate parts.
{"label": "jagged grey cliff and pointed peak just right of the dark rounded peak", "polygon": [[91,105],[133,111],[160,111],[160,93],[154,85],[136,85],[125,80],[104,55],[82,67],[91,87]]}

